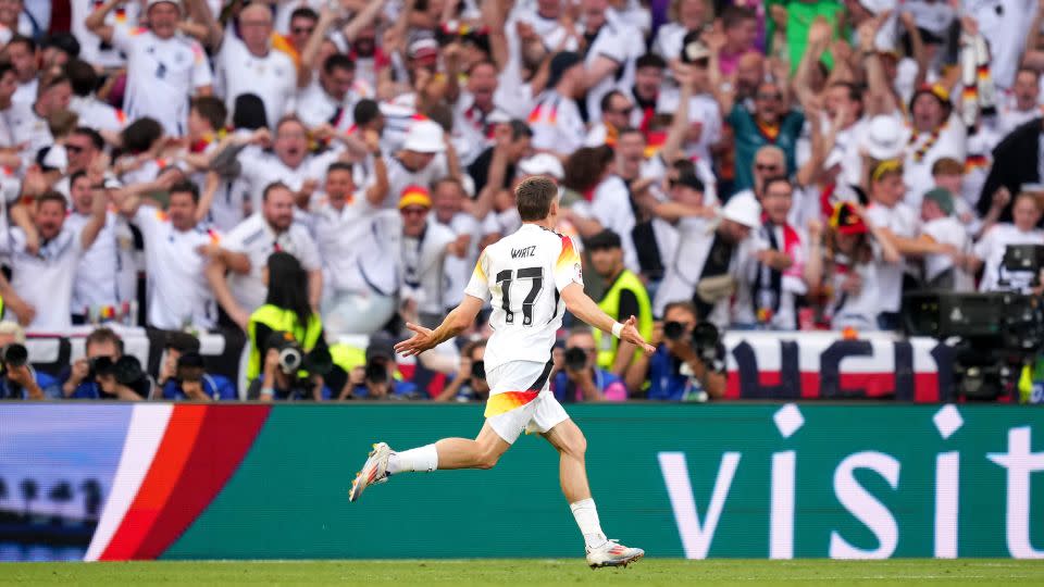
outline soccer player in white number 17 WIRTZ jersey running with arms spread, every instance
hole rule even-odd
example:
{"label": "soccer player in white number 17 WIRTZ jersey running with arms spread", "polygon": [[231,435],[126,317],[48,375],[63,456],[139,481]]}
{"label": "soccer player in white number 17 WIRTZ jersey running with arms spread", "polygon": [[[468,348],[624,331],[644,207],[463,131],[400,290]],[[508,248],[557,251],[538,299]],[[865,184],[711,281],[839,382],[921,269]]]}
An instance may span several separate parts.
{"label": "soccer player in white number 17 WIRTZ jersey running with arms spread", "polygon": [[623,324],[614,322],[584,294],[572,240],[551,230],[558,222],[558,187],[546,177],[530,177],[519,184],[515,196],[522,227],[483,251],[463,301],[434,330],[407,324],[415,334],[396,345],[406,357],[432,349],[468,328],[493,298],[494,334],[484,358],[490,391],[478,437],[444,438],[402,452],[378,442],[356,476],[349,500],[399,473],[490,469],[524,429],[544,435],[559,452],[562,492],[584,535],[587,563],[593,569],[626,565],[645,552],[608,540],[601,532],[584,465],[587,440],[548,387],[551,348],[562,310],[569,309],[646,354],[655,349],[638,334],[634,316]]}

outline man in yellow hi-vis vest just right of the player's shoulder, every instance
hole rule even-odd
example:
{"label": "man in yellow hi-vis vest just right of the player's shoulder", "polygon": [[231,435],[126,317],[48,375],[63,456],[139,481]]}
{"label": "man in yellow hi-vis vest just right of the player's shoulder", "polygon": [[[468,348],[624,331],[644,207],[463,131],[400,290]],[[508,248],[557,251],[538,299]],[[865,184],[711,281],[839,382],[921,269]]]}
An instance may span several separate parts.
{"label": "man in yellow hi-vis vest just right of the player's shoulder", "polygon": [[[598,308],[620,323],[631,316],[636,317],[638,334],[648,340],[652,335],[652,304],[642,279],[623,266],[620,236],[606,229],[584,242],[591,252],[592,266],[608,284],[606,292],[598,300]],[[598,349],[598,367],[617,377],[622,377],[642,352],[634,345],[607,336],[601,330],[595,330],[594,337]]]}

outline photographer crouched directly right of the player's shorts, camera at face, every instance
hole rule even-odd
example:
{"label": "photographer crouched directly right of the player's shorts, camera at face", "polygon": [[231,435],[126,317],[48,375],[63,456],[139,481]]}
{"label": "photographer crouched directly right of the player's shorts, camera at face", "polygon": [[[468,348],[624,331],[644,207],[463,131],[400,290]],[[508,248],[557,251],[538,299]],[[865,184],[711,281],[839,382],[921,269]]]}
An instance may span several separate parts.
{"label": "photographer crouched directly right of the player's shorts, camera at face", "polygon": [[552,379],[555,396],[561,402],[573,401],[623,401],[627,388],[620,377],[599,367],[595,337],[588,326],[576,326],[566,338],[566,351],[556,359]]}

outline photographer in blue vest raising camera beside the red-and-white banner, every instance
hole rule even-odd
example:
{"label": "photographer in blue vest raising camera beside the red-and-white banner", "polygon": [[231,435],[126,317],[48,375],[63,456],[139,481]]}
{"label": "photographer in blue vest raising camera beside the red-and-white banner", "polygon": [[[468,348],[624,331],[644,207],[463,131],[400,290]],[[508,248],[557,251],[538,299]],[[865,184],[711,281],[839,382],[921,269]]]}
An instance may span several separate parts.
{"label": "photographer in blue vest raising camera beside the red-and-white banner", "polygon": [[[643,355],[631,365],[626,377],[629,387],[641,389],[648,378],[648,399],[678,401],[722,397],[725,394],[725,350],[711,327],[707,324],[704,328],[714,333],[714,340],[694,337],[696,308],[687,301],[668,303],[663,310],[663,324],[657,324],[652,330],[650,344],[656,345],[656,352],[650,357]],[[700,329],[700,334],[704,333]]]}

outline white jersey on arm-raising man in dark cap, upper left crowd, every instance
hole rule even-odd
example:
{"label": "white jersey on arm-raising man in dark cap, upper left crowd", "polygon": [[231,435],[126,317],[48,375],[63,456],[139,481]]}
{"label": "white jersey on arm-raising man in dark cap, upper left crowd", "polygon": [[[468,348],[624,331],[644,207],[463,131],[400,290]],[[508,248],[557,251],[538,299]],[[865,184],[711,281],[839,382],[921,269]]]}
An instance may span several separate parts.
{"label": "white jersey on arm-raising man in dark cap, upper left crowd", "polygon": [[151,30],[123,24],[113,27],[112,45],[127,54],[123,110],[128,120],[149,116],[167,135],[184,136],[190,97],[213,83],[203,48],[179,33],[161,39]]}

